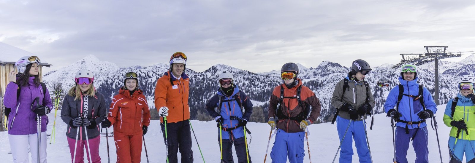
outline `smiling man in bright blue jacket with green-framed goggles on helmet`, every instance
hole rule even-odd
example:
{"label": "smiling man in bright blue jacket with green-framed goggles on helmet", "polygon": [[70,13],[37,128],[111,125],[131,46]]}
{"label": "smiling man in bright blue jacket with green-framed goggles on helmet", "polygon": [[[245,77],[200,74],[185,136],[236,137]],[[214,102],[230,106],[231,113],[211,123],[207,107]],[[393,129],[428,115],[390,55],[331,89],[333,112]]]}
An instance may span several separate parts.
{"label": "smiling man in bright blue jacket with green-framed goggles on helmet", "polygon": [[436,113],[436,103],[426,88],[419,87],[415,64],[408,63],[401,67],[399,81],[400,85],[391,89],[384,104],[388,117],[397,122],[394,161],[408,163],[406,155],[412,140],[416,152],[415,163],[428,163],[428,132],[425,121]]}

